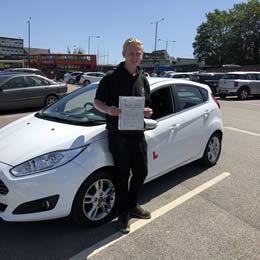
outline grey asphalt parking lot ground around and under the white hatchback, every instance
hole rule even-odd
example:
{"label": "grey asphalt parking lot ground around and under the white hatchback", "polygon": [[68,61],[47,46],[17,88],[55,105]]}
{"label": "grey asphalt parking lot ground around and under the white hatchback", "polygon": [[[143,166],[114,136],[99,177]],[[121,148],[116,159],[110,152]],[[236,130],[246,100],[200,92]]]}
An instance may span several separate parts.
{"label": "grey asphalt parking lot ground around and under the white hatchback", "polygon": [[[1,222],[0,259],[260,259],[260,99],[220,104],[218,164],[194,162],[146,184],[151,220],[131,219],[128,235],[115,221],[91,229],[68,219]],[[0,127],[32,112],[2,114]]]}

